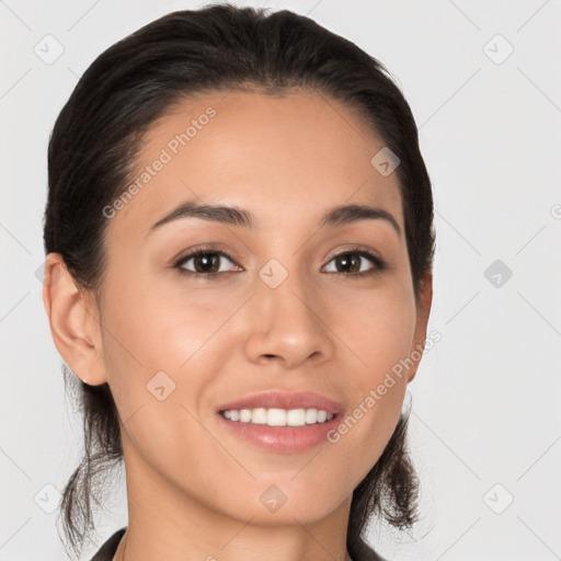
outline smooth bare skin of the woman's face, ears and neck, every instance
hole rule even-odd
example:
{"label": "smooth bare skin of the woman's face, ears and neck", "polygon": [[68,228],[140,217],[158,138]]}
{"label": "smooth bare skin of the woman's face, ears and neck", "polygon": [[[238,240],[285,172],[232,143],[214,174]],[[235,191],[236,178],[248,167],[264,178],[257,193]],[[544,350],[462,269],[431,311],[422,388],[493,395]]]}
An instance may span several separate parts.
{"label": "smooth bare skin of the woman's face, ears and neck", "polygon": [[[148,131],[130,176],[209,106],[216,115],[107,218],[99,302],[60,255],[45,266],[56,347],[89,385],[110,385],[121,417],[128,530],[114,559],[126,547],[125,561],[343,561],[353,490],[386,447],[419,363],[337,443],[304,453],[239,439],[218,407],[316,391],[351,413],[424,343],[432,276],[415,301],[398,178],[370,163],[383,142],[312,91],[183,101]],[[242,207],[256,228],[187,217],[151,230],[187,199]],[[385,219],[319,227],[346,204],[387,210],[401,233]],[[229,255],[214,257],[215,277],[194,276],[208,261],[174,268],[202,244]],[[335,259],[355,245],[387,267]],[[276,288],[259,275],[272,259],[288,273]],[[147,388],[160,371],[175,383],[162,401]],[[286,495],[275,512],[260,501],[271,485]]]}

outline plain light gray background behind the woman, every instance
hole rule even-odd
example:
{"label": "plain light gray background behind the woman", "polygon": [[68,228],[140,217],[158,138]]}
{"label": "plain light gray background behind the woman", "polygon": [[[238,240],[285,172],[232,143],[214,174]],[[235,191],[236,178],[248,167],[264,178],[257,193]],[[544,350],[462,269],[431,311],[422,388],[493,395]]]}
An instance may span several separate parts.
{"label": "plain light gray background behind the woman", "polygon": [[[58,512],[45,510],[82,450],[36,276],[49,130],[98,54],[157,16],[203,4],[0,1],[4,561],[65,559]],[[559,558],[561,2],[264,4],[309,14],[387,65],[417,121],[434,185],[428,329],[442,341],[410,386],[423,519],[411,536],[374,524],[370,541],[391,560]],[[64,47],[50,65],[34,51],[47,50],[47,34]],[[495,260],[512,271],[500,286],[484,274]],[[83,559],[127,522],[124,478],[115,482]]]}

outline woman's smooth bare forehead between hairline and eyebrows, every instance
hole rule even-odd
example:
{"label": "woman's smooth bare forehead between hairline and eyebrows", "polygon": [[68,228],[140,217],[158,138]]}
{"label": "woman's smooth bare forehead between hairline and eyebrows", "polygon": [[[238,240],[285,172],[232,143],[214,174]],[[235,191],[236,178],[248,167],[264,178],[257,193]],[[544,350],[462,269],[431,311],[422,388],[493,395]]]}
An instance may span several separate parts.
{"label": "woman's smooth bare forehead between hairline and eyebrows", "polygon": [[382,207],[401,226],[397,174],[371,164],[383,146],[356,111],[312,91],[184,100],[147,133],[125,187],[134,195],[110,227],[144,237],[187,199],[247,208],[263,228],[311,228],[350,203]]}

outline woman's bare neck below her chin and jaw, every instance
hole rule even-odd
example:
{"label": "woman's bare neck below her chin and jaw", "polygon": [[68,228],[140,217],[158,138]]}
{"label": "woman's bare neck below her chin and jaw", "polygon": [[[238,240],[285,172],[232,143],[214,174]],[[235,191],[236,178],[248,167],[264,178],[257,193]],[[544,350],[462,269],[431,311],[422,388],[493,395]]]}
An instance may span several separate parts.
{"label": "woman's bare neck below her chin and jaw", "polygon": [[[134,451],[133,451],[134,455]],[[125,456],[126,457],[126,456]],[[264,520],[257,504],[249,516],[218,512],[159,477],[139,458],[127,462],[128,527],[114,561],[348,561],[351,496],[320,519],[302,520],[291,505]],[[137,461],[138,460],[138,461]],[[203,497],[204,500],[205,497]],[[220,497],[211,497],[220,502]],[[284,505],[287,506],[288,502]],[[233,513],[236,514],[236,513]],[[278,515],[278,516],[277,516]]]}

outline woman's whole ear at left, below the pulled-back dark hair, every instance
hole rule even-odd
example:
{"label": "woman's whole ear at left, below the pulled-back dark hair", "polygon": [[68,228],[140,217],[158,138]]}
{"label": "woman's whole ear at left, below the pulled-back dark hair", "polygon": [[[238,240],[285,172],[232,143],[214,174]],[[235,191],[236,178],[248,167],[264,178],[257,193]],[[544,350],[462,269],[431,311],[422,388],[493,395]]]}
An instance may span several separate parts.
{"label": "woman's whole ear at left, below the pulled-back dark hair", "polygon": [[58,353],[73,373],[90,386],[106,381],[101,327],[94,299],[77,286],[64,259],[49,253],[43,277],[43,304]]}

